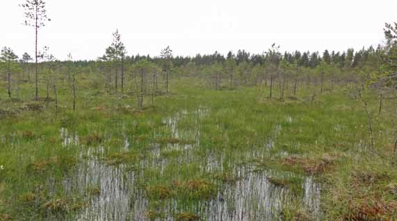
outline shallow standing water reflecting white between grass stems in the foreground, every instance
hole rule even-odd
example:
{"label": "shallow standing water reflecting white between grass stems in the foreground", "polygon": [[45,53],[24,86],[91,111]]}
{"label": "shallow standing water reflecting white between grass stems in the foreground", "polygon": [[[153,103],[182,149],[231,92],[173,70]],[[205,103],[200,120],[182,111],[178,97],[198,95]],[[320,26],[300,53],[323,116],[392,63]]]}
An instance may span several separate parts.
{"label": "shallow standing water reflecting white between grass stems in the foreground", "polygon": [[[200,120],[209,115],[208,109],[197,109],[196,112],[181,111],[165,118],[170,134],[176,139],[194,139],[190,144],[167,144],[160,148],[152,144],[149,159],[142,159],[140,168],[161,168],[161,174],[167,166],[167,159],[161,159],[161,151],[179,150],[181,154],[177,161],[183,165],[194,160],[191,153],[193,148],[200,148]],[[193,130],[181,131],[178,123],[184,117],[195,117]],[[289,117],[287,121],[292,122]],[[124,125],[123,125],[124,127]],[[282,130],[281,126],[275,127],[275,133]],[[60,131],[63,145],[79,145],[79,136],[70,134],[66,129]],[[124,134],[124,150],[129,148],[130,141]],[[268,139],[267,148],[275,145],[273,139]],[[149,199],[137,180],[143,176],[142,171],[130,170],[126,165],[111,166],[101,161],[97,156],[104,152],[103,146],[86,148],[81,152],[81,163],[76,175],[65,180],[67,191],[78,191],[87,196],[90,204],[79,211],[74,220],[149,220],[147,218]],[[89,156],[89,157],[83,157]],[[209,154],[206,161],[202,161],[202,170],[206,172],[220,171],[225,156]],[[216,197],[212,200],[202,200],[197,203],[181,205],[178,200],[168,199],[163,204],[162,211],[165,215],[156,220],[176,220],[175,213],[192,211],[200,216],[200,220],[279,220],[279,212],[283,206],[288,206],[295,197],[289,188],[276,186],[269,181],[269,177],[295,177],[293,173],[264,171],[253,172],[248,166],[234,166],[233,176],[239,177],[235,182],[224,184],[218,189]],[[302,177],[303,194],[300,200],[302,208],[311,212],[313,220],[321,220],[320,192],[321,186],[316,184],[311,177]],[[90,195],[90,191],[97,190],[97,194]],[[180,210],[180,211],[179,211]]]}

